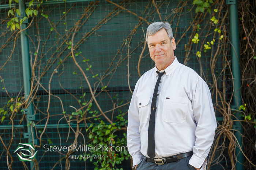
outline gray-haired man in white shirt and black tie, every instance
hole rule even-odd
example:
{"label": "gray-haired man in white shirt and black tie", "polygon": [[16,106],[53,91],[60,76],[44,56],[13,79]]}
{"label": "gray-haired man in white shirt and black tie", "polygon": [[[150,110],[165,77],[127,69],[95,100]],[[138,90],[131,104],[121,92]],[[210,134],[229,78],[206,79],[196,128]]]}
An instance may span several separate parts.
{"label": "gray-haired man in white shirt and black tie", "polygon": [[136,170],[206,169],[217,127],[204,80],[174,56],[169,23],[148,26],[155,67],[136,83],[128,110],[127,145]]}

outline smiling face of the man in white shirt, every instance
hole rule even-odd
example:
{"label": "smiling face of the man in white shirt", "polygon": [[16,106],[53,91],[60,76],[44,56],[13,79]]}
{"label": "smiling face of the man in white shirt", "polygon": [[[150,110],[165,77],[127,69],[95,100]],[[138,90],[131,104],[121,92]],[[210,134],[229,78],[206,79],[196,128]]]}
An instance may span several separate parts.
{"label": "smiling face of the man in white shirt", "polygon": [[150,57],[158,70],[164,70],[170,66],[174,60],[175,39],[170,40],[165,29],[161,29],[155,35],[148,36],[147,41]]}

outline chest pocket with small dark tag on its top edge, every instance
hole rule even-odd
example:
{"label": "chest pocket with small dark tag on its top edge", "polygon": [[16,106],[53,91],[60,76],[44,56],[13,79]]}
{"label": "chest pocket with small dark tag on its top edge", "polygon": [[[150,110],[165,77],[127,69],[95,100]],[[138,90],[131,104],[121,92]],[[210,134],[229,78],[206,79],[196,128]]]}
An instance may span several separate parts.
{"label": "chest pocket with small dark tag on its top edge", "polygon": [[187,117],[188,98],[165,96],[163,102],[164,122],[184,123]]}

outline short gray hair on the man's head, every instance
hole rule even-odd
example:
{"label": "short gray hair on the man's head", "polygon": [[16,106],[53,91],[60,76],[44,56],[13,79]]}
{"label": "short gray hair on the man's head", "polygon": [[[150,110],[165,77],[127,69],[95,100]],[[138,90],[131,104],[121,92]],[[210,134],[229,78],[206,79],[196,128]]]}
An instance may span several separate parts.
{"label": "short gray hair on the man's head", "polygon": [[147,28],[146,41],[148,36],[155,35],[158,31],[160,31],[163,28],[167,32],[167,35],[169,36],[170,40],[172,40],[174,37],[173,37],[173,30],[171,28],[171,24],[169,22],[165,22],[165,23],[155,22],[150,24]]}

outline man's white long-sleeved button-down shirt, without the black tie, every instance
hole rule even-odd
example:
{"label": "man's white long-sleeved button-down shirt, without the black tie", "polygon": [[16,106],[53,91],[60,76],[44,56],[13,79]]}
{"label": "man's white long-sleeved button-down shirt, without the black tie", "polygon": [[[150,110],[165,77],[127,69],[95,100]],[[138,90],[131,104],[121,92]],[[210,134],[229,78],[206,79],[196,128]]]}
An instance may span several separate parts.
{"label": "man's white long-sleeved button-down shirt, without the black tie", "polygon": [[[148,123],[157,71],[155,66],[138,80],[129,106],[127,145],[133,167],[148,157]],[[176,57],[164,71],[155,115],[155,158],[193,151],[189,164],[206,169],[217,128],[209,87]]]}

